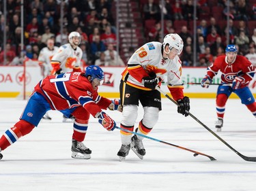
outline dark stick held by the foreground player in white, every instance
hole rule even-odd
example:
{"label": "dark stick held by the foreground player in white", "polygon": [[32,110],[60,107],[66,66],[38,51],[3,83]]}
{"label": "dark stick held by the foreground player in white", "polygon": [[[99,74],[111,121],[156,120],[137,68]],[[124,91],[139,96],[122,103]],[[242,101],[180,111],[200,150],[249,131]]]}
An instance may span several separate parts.
{"label": "dark stick held by the foreground player in white", "polygon": [[[166,94],[164,91],[162,91],[159,87],[156,87],[156,90],[158,90],[161,94],[164,94],[165,97],[167,97],[169,100],[171,100],[173,103],[175,103],[175,105],[178,105],[175,100],[173,100],[171,97],[169,97],[169,95]],[[210,131],[210,133],[212,133],[212,135],[214,135],[215,137],[217,137],[221,142],[223,142],[225,145],[227,145],[227,147],[229,147],[229,149],[231,149],[233,152],[236,152],[236,154],[238,154],[238,156],[240,156],[242,159],[244,159],[244,160],[246,160],[246,161],[256,162],[256,157],[244,156],[244,155],[240,154],[240,152],[238,152],[237,150],[235,150],[233,147],[231,147],[231,145],[229,145],[226,141],[224,141],[223,139],[221,139],[221,137],[219,137],[218,135],[216,135],[216,133],[214,133],[212,130],[210,130],[210,128],[208,128],[208,126],[206,126],[206,125],[203,124],[199,119],[197,119],[195,116],[193,116],[193,114],[191,114],[190,112],[188,112],[188,115],[189,115],[191,118],[193,118],[194,120],[196,120],[197,122],[199,122],[199,124],[201,124],[204,128],[206,128],[208,131]]]}

